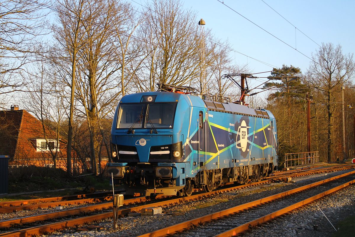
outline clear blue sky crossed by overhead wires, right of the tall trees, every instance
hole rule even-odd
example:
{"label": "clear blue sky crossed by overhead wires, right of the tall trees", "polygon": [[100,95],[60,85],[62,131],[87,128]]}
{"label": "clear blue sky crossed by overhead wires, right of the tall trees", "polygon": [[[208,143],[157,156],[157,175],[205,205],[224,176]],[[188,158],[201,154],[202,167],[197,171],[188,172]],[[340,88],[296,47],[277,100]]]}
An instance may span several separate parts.
{"label": "clear blue sky crossed by overhead wires, right of the tall trees", "polygon": [[[198,17],[206,21],[205,27],[211,29],[215,37],[228,39],[236,51],[276,67],[282,67],[283,64],[293,65],[306,72],[310,63],[310,59],[306,56],[312,58],[311,53],[319,48],[316,43],[340,44],[344,54],[355,51],[355,1],[353,0],[264,0],[316,43],[298,30],[295,38],[295,27],[262,0],[224,0],[225,5],[293,48],[297,48],[306,56],[253,25],[221,2],[186,0],[184,6],[186,9],[195,10]],[[198,20],[200,19],[197,19],[197,22]],[[272,67],[238,53],[235,53],[235,61],[237,64],[249,63],[249,68],[254,73],[272,70]]]}

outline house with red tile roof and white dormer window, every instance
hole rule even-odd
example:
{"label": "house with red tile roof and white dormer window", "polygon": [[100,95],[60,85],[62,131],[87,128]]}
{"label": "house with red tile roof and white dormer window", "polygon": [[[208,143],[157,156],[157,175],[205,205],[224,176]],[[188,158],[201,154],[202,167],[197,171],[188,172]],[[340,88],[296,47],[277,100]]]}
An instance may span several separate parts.
{"label": "house with red tile roof and white dormer window", "polygon": [[0,111],[0,155],[9,155],[9,165],[47,166],[66,170],[66,144],[57,138],[55,131],[36,119],[26,110]]}

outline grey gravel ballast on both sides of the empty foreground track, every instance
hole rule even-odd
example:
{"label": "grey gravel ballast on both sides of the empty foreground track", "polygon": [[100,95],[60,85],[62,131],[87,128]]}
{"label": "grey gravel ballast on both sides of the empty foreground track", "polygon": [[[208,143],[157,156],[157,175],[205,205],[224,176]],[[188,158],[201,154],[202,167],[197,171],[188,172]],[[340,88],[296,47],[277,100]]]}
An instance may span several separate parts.
{"label": "grey gravel ballast on both sides of the empty foreground track", "polygon": [[[346,172],[349,172],[349,170],[293,178],[293,180],[296,181],[295,183],[268,183],[238,189],[233,192],[219,194],[198,201],[164,207],[162,215],[124,217],[118,220],[118,230],[113,229],[112,219],[107,219],[99,223],[94,223],[95,225],[101,225],[103,227],[101,230],[77,231],[76,228],[71,228],[61,232],[49,233],[44,236],[138,236],[143,233],[165,228],[175,223],[211,214],[212,212],[224,210]],[[257,226],[243,233],[241,236],[331,236],[335,230],[315,203],[318,204],[333,225],[337,227],[336,224],[338,221],[343,220],[349,215],[355,215],[354,194],[355,187],[353,185],[292,211],[289,214]],[[314,230],[313,225],[318,225],[318,230]],[[178,235],[179,234],[176,234],[176,236]]]}

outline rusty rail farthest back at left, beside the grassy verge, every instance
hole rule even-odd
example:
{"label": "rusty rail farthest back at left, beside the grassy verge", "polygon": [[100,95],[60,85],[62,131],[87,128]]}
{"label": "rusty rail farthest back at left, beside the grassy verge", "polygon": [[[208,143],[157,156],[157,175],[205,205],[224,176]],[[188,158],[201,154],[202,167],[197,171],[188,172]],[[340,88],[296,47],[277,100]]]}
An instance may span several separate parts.
{"label": "rusty rail farthest back at left, beside the grassy verge", "polygon": [[97,197],[100,195],[108,195],[110,192],[101,192],[101,193],[89,193],[89,194],[79,194],[79,195],[70,195],[70,196],[60,196],[53,198],[37,198],[37,199],[28,199],[28,200],[16,200],[16,201],[4,201],[0,203],[0,208],[5,208],[7,206],[23,206],[28,204],[35,203],[46,203],[51,201],[61,201],[61,200],[73,200],[73,199],[83,199]]}

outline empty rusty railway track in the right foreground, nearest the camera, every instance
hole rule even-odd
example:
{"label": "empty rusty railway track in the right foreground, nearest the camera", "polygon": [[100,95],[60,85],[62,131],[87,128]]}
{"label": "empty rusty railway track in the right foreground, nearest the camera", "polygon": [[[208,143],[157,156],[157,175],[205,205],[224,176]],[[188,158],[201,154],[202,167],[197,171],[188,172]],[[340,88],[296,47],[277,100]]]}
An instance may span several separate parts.
{"label": "empty rusty railway track in the right foreground, nearest the camera", "polygon": [[[139,237],[234,236],[355,183],[355,171],[185,221]],[[176,233],[176,234],[175,234]]]}

